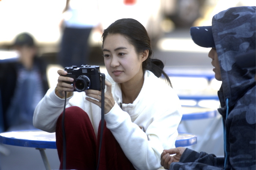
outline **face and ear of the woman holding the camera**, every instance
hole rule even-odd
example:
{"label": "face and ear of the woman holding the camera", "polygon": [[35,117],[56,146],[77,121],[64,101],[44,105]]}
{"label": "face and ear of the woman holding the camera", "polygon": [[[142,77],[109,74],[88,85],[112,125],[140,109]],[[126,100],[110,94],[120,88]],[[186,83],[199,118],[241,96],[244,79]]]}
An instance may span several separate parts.
{"label": "face and ear of the woman holding the camera", "polygon": [[148,53],[138,54],[124,35],[107,35],[103,56],[106,69],[116,83],[136,82],[143,77],[142,62]]}

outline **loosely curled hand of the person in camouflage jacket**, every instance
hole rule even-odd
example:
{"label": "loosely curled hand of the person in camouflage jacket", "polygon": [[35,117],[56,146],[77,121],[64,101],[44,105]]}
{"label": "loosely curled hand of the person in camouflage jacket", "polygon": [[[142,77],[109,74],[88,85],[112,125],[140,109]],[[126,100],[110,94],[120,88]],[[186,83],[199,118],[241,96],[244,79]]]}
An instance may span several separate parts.
{"label": "loosely curled hand of the person in camouflage jacket", "polygon": [[[170,169],[171,163],[180,161],[180,157],[185,151],[185,149],[186,148],[184,147],[177,147],[169,150],[163,150],[161,154],[161,165],[165,169]],[[172,154],[176,154],[176,155],[171,156]]]}

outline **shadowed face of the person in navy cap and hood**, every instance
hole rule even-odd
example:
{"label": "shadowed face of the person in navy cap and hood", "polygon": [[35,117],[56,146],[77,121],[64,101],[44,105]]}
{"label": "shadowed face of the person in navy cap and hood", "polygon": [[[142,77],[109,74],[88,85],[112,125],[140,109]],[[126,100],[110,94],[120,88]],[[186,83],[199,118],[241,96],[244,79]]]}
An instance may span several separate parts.
{"label": "shadowed face of the person in navy cap and hood", "polygon": [[215,79],[221,81],[221,68],[219,67],[218,54],[215,48],[212,48],[208,53],[208,56],[212,59],[213,71],[215,72]]}

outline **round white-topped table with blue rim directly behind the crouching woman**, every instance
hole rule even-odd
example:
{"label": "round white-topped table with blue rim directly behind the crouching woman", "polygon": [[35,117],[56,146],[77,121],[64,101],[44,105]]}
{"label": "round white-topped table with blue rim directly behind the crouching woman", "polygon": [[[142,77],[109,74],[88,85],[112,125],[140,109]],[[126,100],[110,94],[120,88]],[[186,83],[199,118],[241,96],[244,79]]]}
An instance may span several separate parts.
{"label": "round white-topped table with blue rim directly behind the crouching woman", "polygon": [[[179,133],[175,142],[176,147],[191,146],[196,144],[196,136],[188,133]],[[50,170],[50,165],[45,154],[45,149],[56,149],[55,133],[48,133],[41,130],[34,131],[14,131],[0,133],[0,143],[32,147],[40,151],[46,170]]]}

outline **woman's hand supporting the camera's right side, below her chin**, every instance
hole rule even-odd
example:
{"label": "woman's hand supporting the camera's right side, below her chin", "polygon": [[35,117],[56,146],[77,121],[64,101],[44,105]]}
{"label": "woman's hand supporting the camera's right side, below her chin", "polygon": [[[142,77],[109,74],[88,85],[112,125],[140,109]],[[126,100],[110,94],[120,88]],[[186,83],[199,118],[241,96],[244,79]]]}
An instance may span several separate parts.
{"label": "woman's hand supporting the camera's right side, below her chin", "polygon": [[[111,92],[111,86],[112,86],[111,83],[108,82],[108,81],[105,81],[105,85],[107,86],[107,90],[105,92],[105,110],[104,110],[104,114],[107,114],[107,113],[109,113],[109,111],[114,106],[115,101],[114,101],[114,98],[113,98],[113,95],[112,95],[112,92]],[[99,107],[101,107],[101,91],[86,90],[85,92],[86,92],[87,96],[96,99],[96,100],[94,100],[94,99],[86,97],[87,101],[92,102],[95,105],[98,105]]]}

